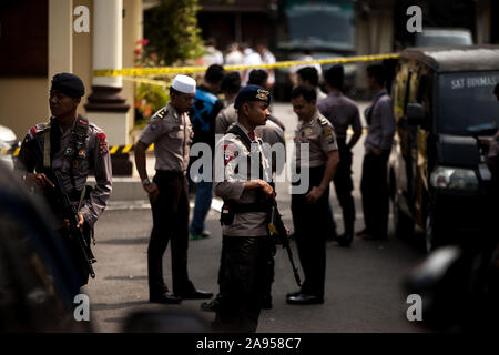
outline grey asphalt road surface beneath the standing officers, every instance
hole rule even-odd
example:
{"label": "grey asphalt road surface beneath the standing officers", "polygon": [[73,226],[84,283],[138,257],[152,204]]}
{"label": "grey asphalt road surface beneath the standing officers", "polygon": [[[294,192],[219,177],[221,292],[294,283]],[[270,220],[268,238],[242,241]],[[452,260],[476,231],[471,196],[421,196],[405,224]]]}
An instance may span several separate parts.
{"label": "grey asphalt road surface beneath the standing officers", "polygon": [[[360,103],[361,111],[366,103]],[[274,113],[286,124],[286,136],[293,135],[296,119],[291,105],[276,104]],[[354,150],[356,230],[364,227],[359,180],[363,141]],[[334,189],[333,189],[334,190]],[[285,223],[293,230],[287,184],[277,184],[277,196]],[[332,192],[330,200],[338,233],[343,232],[340,207]],[[222,246],[218,212],[212,210],[207,230],[212,237],[191,241],[189,248],[190,277],[196,287],[217,293],[216,276]],[[391,221],[390,221],[391,222]],[[147,204],[138,201],[120,209],[106,211],[96,224],[98,244],[94,254],[96,278],[91,280],[84,292],[90,296],[91,324],[98,332],[121,332],[126,317],[142,311],[186,312],[203,322],[213,320],[213,313],[200,311],[201,301],[183,301],[180,305],[159,305],[147,302],[146,251],[152,227]],[[299,262],[294,243],[295,262]],[[263,311],[258,332],[336,333],[420,332],[406,318],[409,304],[401,283],[407,273],[425,257],[418,244],[399,241],[393,235],[390,224],[387,241],[354,240],[349,248],[327,244],[325,303],[296,306],[285,303],[285,295],[297,288],[284,250],[278,250],[273,285],[274,307]],[[164,275],[171,286],[170,247],[164,257]],[[303,275],[303,272],[301,272]],[[182,328],[174,328],[182,331]]]}

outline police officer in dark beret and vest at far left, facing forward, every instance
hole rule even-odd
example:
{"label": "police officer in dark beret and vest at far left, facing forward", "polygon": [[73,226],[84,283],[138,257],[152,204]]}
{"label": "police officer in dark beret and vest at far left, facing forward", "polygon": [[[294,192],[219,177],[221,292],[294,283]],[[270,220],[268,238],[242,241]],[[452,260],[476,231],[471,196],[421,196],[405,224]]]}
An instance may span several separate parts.
{"label": "police officer in dark beret and vest at far left, facing forward", "polygon": [[[57,181],[50,173],[60,175],[62,190],[78,211],[78,227],[82,229],[91,256],[90,239],[99,216],[105,210],[112,190],[111,160],[104,132],[77,113],[81,97],[84,95],[81,79],[71,73],[59,73],[52,78],[50,89],[50,111],[47,123],[32,126],[21,145],[16,170],[26,184],[40,190],[55,214],[58,232],[61,234],[78,271],[78,290],[88,283],[89,271],[83,260],[77,237],[70,235],[64,221],[65,211],[57,194]],[[93,171],[96,185],[86,186],[86,178]],[[49,173],[50,172],[50,173]]]}

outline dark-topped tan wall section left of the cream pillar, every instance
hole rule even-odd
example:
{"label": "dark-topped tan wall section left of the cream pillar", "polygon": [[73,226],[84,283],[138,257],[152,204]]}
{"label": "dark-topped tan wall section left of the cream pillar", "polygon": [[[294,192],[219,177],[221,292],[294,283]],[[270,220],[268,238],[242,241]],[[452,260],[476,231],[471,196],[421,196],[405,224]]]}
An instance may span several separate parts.
{"label": "dark-topped tan wall section left of the cream pillar", "polygon": [[0,124],[22,140],[28,129],[47,120],[48,0],[0,6]]}

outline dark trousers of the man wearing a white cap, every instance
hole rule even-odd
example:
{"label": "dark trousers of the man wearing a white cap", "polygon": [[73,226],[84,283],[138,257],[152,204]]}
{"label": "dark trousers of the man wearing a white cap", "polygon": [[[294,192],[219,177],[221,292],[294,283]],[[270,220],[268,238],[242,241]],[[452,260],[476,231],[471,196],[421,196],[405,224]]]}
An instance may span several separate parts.
{"label": "dark trousers of the man wearing a white cap", "polygon": [[172,284],[175,294],[194,290],[187,276],[189,196],[187,178],[183,172],[156,171],[153,179],[160,190],[151,201],[153,229],[147,247],[150,295],[169,292],[163,280],[163,254],[172,244]]}

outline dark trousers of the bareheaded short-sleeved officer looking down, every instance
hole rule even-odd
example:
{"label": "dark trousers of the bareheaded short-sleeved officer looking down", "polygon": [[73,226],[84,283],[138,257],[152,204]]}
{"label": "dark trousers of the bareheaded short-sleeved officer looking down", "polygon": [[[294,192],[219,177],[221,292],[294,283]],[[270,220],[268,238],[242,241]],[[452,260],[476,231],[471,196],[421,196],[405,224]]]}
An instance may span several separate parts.
{"label": "dark trousers of the bareheaded short-sleeved officer looking down", "polygon": [[[325,166],[309,169],[307,193],[323,180]],[[299,172],[298,172],[299,173]],[[294,183],[299,184],[299,181]],[[316,203],[308,203],[306,194],[292,195],[292,214],[298,257],[305,274],[302,293],[324,296],[326,277],[326,237],[328,231],[329,187]]]}

